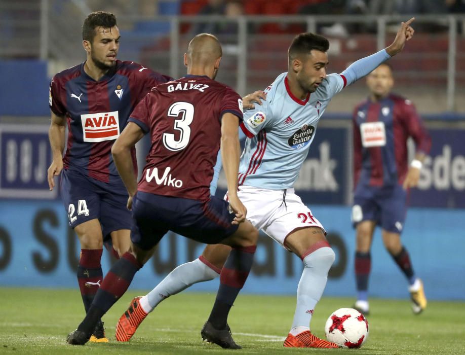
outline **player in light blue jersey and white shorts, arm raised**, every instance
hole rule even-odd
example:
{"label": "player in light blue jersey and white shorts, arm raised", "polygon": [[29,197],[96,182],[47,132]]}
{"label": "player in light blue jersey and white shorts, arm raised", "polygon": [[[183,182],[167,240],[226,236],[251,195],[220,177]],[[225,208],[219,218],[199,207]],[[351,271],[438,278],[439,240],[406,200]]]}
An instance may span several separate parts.
{"label": "player in light blue jersey and white shorts, arm raised", "polygon": [[[294,182],[331,98],[401,52],[413,36],[413,20],[402,22],[389,47],[356,61],[341,74],[326,75],[326,38],[313,33],[297,35],[288,51],[288,72],[265,89],[266,100],[260,107],[244,114],[241,128],[248,139],[240,162],[238,197],[247,208],[247,219],[303,263],[286,347],[338,347],[310,332],[335,254],[321,223],[294,193]],[[117,340],[121,332],[129,340],[163,299],[215,278],[228,253],[228,247],[207,245],[199,259],[178,266],[146,296],[136,297],[118,322]],[[144,316],[136,319],[132,314],[138,307]]]}

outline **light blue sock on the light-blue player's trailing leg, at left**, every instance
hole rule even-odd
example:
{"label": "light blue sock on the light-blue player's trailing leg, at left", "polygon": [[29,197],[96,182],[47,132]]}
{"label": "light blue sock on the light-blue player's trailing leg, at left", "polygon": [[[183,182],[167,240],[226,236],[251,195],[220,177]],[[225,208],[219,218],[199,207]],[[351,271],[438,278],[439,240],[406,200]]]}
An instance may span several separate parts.
{"label": "light blue sock on the light-blue player's trailing leg, at left", "polygon": [[139,303],[142,309],[149,313],[171,295],[176,295],[194,283],[213,280],[217,276],[219,273],[196,259],[171,271],[152,291],[143,296]]}

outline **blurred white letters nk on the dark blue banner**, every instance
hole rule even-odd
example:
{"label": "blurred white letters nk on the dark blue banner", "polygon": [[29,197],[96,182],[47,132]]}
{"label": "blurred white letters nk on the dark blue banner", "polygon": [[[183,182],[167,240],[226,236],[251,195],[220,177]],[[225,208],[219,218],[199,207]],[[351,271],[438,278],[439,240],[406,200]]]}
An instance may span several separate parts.
{"label": "blurred white letters nk on the dark blue banner", "polygon": [[303,162],[294,188],[304,191],[338,192],[339,184],[334,176],[337,160],[331,159],[331,146],[325,140],[318,149],[319,158],[305,159]]}

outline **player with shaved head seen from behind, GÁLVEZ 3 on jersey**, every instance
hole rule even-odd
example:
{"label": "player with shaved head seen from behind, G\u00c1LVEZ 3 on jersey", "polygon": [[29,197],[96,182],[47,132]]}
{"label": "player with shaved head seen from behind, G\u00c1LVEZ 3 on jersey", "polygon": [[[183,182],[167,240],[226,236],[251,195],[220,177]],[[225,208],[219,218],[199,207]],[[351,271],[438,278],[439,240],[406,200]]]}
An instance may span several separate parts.
{"label": "player with shaved head seen from behind, G\u00c1LVEZ 3 on jersey", "polygon": [[[130,251],[103,279],[84,321],[68,335],[69,344],[89,340],[98,319],[126,292],[134,274],[171,230],[232,247],[202,336],[224,348],[241,348],[231,337],[227,315],[252,267],[258,230],[246,220],[247,209],[237,194],[242,99],[214,81],[221,56],[221,45],[213,35],[193,38],[184,54],[187,75],[153,88],[113,145],[114,162],[130,196],[128,208],[133,209]],[[131,151],[145,133],[150,133],[151,148],[137,184]],[[228,201],[210,196],[220,146]],[[141,310],[134,308],[132,313],[137,317]]]}

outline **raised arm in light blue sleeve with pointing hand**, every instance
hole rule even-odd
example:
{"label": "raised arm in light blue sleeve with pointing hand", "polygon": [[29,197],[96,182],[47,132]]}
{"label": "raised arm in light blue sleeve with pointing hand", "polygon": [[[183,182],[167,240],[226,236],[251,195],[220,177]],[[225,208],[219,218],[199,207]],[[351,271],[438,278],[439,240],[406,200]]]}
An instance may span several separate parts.
{"label": "raised arm in light blue sleeve with pointing hand", "polygon": [[405,43],[412,39],[413,33],[415,32],[410,26],[413,20],[415,20],[414,17],[412,17],[407,22],[401,23],[401,26],[397,31],[396,38],[389,47],[368,57],[359,59],[347,67],[341,73],[347,80],[346,85],[350,85],[363,78],[364,76],[370,74],[379,64],[401,52],[402,49],[404,49]]}

